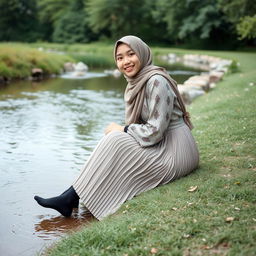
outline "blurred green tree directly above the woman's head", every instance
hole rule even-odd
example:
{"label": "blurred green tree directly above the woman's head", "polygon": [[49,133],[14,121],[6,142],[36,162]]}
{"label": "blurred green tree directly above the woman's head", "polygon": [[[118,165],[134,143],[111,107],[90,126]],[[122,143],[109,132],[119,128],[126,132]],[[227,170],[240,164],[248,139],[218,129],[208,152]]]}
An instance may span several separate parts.
{"label": "blurred green tree directly above the woman's head", "polygon": [[152,0],[89,0],[86,12],[95,32],[115,39],[133,34],[148,40],[162,36],[162,27],[159,29],[152,18],[152,8],[156,8]]}

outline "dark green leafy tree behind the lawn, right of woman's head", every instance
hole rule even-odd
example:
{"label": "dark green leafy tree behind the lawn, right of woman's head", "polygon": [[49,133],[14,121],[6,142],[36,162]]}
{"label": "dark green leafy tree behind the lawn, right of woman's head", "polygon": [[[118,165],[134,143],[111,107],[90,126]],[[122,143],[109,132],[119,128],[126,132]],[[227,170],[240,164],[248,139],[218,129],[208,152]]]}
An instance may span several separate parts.
{"label": "dark green leafy tree behind the lawn, right of woman's head", "polygon": [[166,23],[166,33],[177,44],[224,48],[233,44],[231,26],[215,0],[158,0],[157,20]]}

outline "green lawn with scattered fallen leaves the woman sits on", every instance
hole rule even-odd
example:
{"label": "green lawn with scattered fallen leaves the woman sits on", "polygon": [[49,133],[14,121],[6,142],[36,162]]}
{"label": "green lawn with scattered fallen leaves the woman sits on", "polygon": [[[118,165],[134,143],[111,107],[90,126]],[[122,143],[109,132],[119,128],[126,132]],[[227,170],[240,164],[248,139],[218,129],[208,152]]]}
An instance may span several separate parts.
{"label": "green lawn with scattered fallen leaves the woman sits on", "polygon": [[200,168],[126,202],[49,255],[255,255],[256,54],[194,53],[241,64],[190,106]]}

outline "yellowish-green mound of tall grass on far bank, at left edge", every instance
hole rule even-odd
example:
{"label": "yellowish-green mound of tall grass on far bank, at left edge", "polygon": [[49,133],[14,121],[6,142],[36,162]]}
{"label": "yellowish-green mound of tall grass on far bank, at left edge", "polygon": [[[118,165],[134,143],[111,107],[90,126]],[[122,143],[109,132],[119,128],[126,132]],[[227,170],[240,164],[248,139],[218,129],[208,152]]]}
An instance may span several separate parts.
{"label": "yellowish-green mound of tall grass on far bank, at left edge", "polygon": [[33,68],[40,68],[44,76],[59,74],[63,64],[72,61],[66,55],[46,53],[31,48],[28,44],[0,44],[0,78],[24,79],[31,76]]}

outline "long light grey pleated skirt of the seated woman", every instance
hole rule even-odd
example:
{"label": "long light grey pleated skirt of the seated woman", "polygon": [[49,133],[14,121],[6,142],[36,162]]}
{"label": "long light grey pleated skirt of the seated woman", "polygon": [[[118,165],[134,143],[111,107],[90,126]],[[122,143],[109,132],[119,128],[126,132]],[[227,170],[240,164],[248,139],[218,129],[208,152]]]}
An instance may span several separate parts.
{"label": "long light grey pleated skirt of the seated woman", "polygon": [[169,129],[158,144],[141,147],[129,134],[104,136],[73,184],[85,207],[99,220],[128,199],[192,172],[199,163],[186,125]]}

